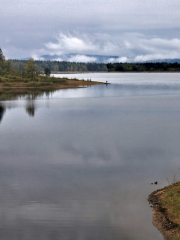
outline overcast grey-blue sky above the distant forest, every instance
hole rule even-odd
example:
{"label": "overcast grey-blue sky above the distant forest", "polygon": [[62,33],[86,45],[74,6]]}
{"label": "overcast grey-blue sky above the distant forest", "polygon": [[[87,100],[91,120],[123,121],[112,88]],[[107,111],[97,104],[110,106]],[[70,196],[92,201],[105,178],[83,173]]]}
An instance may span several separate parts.
{"label": "overcast grey-blue sky above the distant forest", "polygon": [[0,0],[0,47],[16,59],[180,58],[180,1]]}

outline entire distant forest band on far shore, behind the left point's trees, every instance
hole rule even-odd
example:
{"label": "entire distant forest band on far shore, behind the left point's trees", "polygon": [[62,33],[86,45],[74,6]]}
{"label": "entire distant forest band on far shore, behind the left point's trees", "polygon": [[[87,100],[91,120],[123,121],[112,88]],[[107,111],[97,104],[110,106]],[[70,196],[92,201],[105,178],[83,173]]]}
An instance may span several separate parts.
{"label": "entire distant forest band on far shore, behind the left point's trees", "polygon": [[[9,60],[13,69],[24,71],[28,60]],[[66,61],[37,61],[39,71],[51,72],[180,72],[180,63],[145,62],[145,63],[81,63]]]}

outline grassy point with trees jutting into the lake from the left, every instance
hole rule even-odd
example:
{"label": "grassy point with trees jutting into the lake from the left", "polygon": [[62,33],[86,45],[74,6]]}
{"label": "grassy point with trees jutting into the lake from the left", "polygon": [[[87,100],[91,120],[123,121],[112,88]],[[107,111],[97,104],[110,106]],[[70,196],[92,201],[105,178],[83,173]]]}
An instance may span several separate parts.
{"label": "grassy point with trees jutting into the lake from the left", "polygon": [[88,85],[105,84],[89,80],[56,78],[51,76],[51,70],[45,68],[40,71],[33,58],[29,59],[22,69],[16,70],[10,61],[7,61],[0,48],[0,90],[16,88],[64,89],[79,88]]}

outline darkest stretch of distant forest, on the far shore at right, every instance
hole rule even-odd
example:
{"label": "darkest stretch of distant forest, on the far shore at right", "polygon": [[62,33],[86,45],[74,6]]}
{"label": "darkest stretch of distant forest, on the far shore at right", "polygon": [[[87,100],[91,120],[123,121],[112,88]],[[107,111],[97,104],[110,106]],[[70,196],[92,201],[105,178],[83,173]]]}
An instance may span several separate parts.
{"label": "darkest stretch of distant forest, on the far shore at right", "polygon": [[180,64],[167,62],[108,63],[109,72],[179,72]]}

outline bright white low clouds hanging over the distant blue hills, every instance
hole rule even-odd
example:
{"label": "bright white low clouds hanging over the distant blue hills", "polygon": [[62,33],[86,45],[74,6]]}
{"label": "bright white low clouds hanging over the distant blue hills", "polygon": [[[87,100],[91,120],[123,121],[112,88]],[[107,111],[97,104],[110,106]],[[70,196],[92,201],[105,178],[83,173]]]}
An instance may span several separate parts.
{"label": "bright white low clouds hanging over the distant blue hills", "polygon": [[29,56],[36,60],[103,63],[174,59],[180,58],[180,39],[147,38],[141,33],[113,37],[97,33],[60,33],[41,49],[31,50]]}

